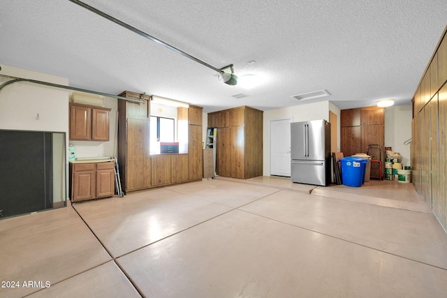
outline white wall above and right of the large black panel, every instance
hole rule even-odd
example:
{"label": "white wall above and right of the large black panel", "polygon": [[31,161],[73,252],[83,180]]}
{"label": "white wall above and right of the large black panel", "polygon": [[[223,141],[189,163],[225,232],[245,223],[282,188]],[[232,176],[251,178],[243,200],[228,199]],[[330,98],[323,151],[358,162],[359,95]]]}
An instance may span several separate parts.
{"label": "white wall above and right of the large black panel", "polygon": [[[1,74],[23,77],[32,80],[68,85],[68,79],[45,75],[29,70],[1,66]],[[0,77],[0,82],[10,79]],[[68,146],[68,91],[38,84],[18,82],[4,87],[0,91],[0,129],[15,131],[45,131],[65,133],[65,148]],[[53,155],[54,173],[66,169],[66,181],[63,177],[54,177],[53,201],[61,202],[68,198],[68,153],[57,146],[63,142],[64,135],[54,135]],[[59,182],[58,182],[59,181]]]}

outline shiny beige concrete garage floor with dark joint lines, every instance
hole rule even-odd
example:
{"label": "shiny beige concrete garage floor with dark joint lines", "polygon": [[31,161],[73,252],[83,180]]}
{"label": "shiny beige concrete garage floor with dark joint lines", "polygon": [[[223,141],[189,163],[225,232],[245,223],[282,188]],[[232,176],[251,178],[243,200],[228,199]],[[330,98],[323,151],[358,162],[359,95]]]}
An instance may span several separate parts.
{"label": "shiny beige concrete garage floor with dark joint lines", "polygon": [[0,235],[0,297],[447,292],[447,234],[395,181],[218,177],[6,218]]}

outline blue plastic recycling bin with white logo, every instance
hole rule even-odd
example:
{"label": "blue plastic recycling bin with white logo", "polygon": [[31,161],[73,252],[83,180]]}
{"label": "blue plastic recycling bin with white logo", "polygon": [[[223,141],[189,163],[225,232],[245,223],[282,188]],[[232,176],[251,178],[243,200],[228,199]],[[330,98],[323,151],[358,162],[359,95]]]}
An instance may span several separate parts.
{"label": "blue plastic recycling bin with white logo", "polygon": [[365,171],[368,160],[361,157],[346,156],[340,158],[342,164],[342,184],[360,187],[365,182]]}

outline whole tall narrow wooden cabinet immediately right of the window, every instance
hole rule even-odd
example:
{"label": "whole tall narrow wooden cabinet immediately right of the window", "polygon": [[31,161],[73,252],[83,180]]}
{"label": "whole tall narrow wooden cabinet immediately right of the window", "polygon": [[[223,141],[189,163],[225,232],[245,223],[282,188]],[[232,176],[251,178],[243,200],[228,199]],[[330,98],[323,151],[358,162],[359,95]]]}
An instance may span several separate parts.
{"label": "whole tall narrow wooden cabinet immediately right of the window", "polygon": [[199,180],[203,177],[203,107],[189,106],[189,180]]}

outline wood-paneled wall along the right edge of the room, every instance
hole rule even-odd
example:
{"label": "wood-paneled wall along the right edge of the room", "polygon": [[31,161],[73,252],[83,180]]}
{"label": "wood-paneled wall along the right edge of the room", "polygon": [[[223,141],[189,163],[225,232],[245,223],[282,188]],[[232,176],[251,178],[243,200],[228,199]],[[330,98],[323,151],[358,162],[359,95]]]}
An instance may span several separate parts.
{"label": "wood-paneled wall along the right edge of the room", "polygon": [[412,179],[447,230],[447,37],[442,33],[413,96]]}

